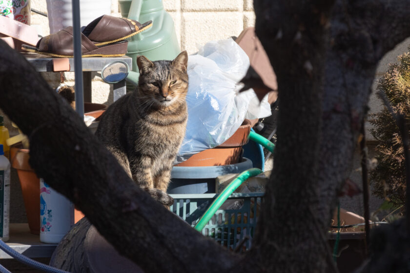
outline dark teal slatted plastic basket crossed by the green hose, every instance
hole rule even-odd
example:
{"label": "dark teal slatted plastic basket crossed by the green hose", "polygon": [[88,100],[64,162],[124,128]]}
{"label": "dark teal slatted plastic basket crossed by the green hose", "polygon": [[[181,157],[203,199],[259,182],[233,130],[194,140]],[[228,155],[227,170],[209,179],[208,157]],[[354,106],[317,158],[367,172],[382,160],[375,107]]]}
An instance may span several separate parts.
{"label": "dark teal slatted plastic basket crossed by the green hose", "polygon": [[[219,209],[205,225],[202,234],[215,239],[215,241],[229,249],[235,249],[244,237],[248,236],[249,239],[244,242],[243,249],[249,249],[263,195],[264,193],[230,195],[224,205],[227,202],[235,203],[233,208]],[[171,212],[194,227],[218,195],[174,194],[171,196],[174,198],[174,204],[170,207]]]}

